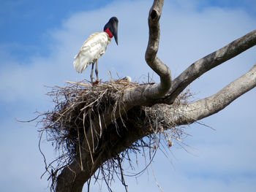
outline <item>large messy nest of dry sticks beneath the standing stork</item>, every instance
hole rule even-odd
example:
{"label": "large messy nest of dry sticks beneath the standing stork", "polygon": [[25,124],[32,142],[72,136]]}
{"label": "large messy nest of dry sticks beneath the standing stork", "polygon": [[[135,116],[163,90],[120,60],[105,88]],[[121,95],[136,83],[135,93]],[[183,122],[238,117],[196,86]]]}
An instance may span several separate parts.
{"label": "large messy nest of dry sticks beneath the standing stork", "polygon": [[[43,126],[39,131],[41,132],[41,137],[42,134],[46,134],[47,141],[52,142],[58,155],[56,160],[49,164],[45,160],[45,172],[48,172],[50,174],[49,178],[52,179],[51,190],[54,191],[54,185],[56,184],[56,177],[59,171],[64,166],[71,164],[75,158],[79,157],[80,145],[86,138],[86,133],[91,131],[89,128],[94,127],[91,125],[94,118],[99,118],[99,114],[108,110],[108,107],[113,108],[113,123],[109,126],[109,130],[92,130],[94,137],[97,137],[97,143],[94,144],[91,150],[98,150],[104,146],[102,142],[108,139],[108,137],[104,136],[108,135],[111,131],[115,131],[118,137],[122,137],[129,129],[127,127],[131,126],[130,122],[132,122],[132,126],[137,126],[138,128],[150,126],[154,133],[148,134],[143,139],[139,139],[132,146],[127,147],[127,150],[106,161],[100,167],[99,172],[94,174],[96,180],[105,180],[110,191],[110,183],[115,174],[126,188],[124,170],[121,164],[126,159],[129,161],[130,167],[133,168],[132,158],[129,157],[130,153],[135,153],[136,155],[141,153],[144,157],[149,158],[148,162],[151,162],[157,148],[163,147],[161,140],[165,141],[167,148],[170,148],[173,142],[183,146],[182,141],[187,134],[184,133],[184,127],[176,127],[173,124],[170,106],[156,104],[153,107],[136,107],[134,112],[127,112],[121,118],[115,118],[115,110],[122,107],[124,91],[148,84],[153,83],[138,84],[116,80],[112,82],[101,82],[95,86],[91,86],[91,84],[86,82],[69,82],[64,88],[57,86],[50,88],[48,96],[53,99],[55,107],[51,112],[42,114],[43,118],[40,122]],[[191,96],[189,91],[182,93],[172,107],[187,104],[189,96]],[[137,115],[132,115],[135,112]],[[40,142],[41,139],[39,146]],[[101,173],[101,177],[99,173]]]}

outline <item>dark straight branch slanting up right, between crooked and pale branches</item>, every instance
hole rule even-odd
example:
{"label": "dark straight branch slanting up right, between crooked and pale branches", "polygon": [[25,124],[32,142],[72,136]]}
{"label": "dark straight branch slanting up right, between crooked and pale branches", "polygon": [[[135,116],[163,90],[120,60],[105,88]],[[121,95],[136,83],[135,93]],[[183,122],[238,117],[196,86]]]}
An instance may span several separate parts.
{"label": "dark straight branch slanting up right, between crooked and pale branches", "polygon": [[230,42],[230,44],[222,47],[214,53],[206,55],[206,57],[196,61],[186,70],[184,70],[184,72],[182,72],[178,77],[176,77],[176,79],[173,80],[173,86],[167,96],[165,96],[165,99],[160,99],[159,102],[172,104],[178,94],[184,91],[184,89],[187,88],[187,85],[200,77],[202,74],[255,45],[256,30],[246,34],[244,37]]}

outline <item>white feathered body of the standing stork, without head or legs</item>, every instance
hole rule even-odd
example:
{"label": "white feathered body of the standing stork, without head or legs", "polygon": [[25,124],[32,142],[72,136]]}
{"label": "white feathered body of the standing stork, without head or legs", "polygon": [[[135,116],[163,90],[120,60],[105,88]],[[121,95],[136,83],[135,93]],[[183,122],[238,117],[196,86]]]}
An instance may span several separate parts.
{"label": "white feathered body of the standing stork, without head or legs", "polygon": [[111,39],[106,32],[96,32],[83,43],[78,55],[75,55],[74,67],[79,73],[83,72],[87,66],[94,64],[103,55]]}

